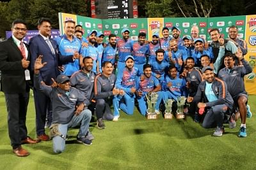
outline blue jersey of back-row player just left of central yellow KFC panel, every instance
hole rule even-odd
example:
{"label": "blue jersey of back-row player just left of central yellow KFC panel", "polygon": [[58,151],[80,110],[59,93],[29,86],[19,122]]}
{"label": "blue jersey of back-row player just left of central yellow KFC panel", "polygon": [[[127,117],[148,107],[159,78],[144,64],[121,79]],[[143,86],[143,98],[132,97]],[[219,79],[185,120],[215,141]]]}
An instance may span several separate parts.
{"label": "blue jersey of back-row player just left of central yellow KFC panel", "polygon": [[149,51],[149,46],[147,45],[140,45],[140,43],[135,42],[132,45],[132,56],[134,57],[135,64],[146,64],[146,54]]}

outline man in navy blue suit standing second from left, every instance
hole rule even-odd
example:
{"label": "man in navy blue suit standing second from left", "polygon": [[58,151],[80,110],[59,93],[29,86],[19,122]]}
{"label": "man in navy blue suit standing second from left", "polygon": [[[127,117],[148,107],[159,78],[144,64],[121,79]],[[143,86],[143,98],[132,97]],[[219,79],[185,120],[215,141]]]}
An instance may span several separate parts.
{"label": "man in navy blue suit standing second from left", "polygon": [[[40,70],[40,80],[45,85],[51,85],[51,78],[56,79],[58,71],[58,57],[56,55],[56,43],[49,38],[51,36],[51,20],[49,18],[40,18],[38,20],[38,36],[29,41],[29,51],[31,53],[31,69],[34,68],[35,60],[42,55],[42,61],[47,65]],[[45,134],[45,118],[48,123],[52,121],[52,104],[51,99],[42,91],[34,87],[34,99],[36,109],[36,135],[42,141],[48,141],[49,136]]]}

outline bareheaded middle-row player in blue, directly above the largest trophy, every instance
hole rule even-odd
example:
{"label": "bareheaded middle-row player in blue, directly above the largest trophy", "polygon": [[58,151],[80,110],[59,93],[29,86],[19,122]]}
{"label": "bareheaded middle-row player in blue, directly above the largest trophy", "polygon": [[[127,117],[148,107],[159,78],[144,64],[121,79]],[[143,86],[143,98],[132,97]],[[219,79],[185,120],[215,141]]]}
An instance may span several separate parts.
{"label": "bareheaded middle-row player in blue, directly above the largest trophy", "polygon": [[152,66],[152,75],[155,76],[159,82],[164,80],[164,73],[169,67],[169,62],[164,60],[164,50],[156,50],[156,61],[149,63]]}

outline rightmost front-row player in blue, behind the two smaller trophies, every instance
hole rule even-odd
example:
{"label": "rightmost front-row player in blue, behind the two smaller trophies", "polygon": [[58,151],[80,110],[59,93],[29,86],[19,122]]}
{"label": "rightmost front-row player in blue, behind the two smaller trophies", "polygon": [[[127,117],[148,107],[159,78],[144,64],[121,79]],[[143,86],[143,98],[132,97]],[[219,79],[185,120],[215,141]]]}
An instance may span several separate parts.
{"label": "rightmost front-row player in blue, behind the two smaller trophies", "polygon": [[168,99],[174,99],[175,102],[172,105],[172,112],[177,111],[177,97],[185,96],[184,92],[186,89],[186,80],[177,76],[178,70],[175,66],[168,68],[168,75],[165,77],[162,83],[163,101],[166,102]]}

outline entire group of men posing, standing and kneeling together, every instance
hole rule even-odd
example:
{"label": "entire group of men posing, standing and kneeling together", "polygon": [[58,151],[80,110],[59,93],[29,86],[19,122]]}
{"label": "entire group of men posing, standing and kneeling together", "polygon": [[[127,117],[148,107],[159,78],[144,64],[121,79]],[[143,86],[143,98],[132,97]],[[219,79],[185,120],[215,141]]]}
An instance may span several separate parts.
{"label": "entire group of men posing, standing and kneeling together", "polygon": [[[65,150],[69,127],[80,125],[77,141],[91,145],[89,131],[92,111],[97,127],[104,129],[103,120],[118,121],[119,110],[132,115],[134,99],[138,100],[141,115],[147,114],[145,95],[157,92],[157,114],[160,105],[174,99],[172,111],[177,110],[177,97],[188,97],[189,113],[200,121],[198,110],[204,110],[202,125],[216,127],[214,136],[222,136],[225,118],[230,128],[236,126],[236,108],[241,117],[239,137],[246,137],[246,117],[251,117],[243,77],[252,72],[244,60],[246,42],[237,38],[236,26],[229,28],[229,39],[220,37],[218,29],[209,34],[211,43],[198,37],[198,27],[191,28],[191,36],[180,38],[179,27],[168,27],[146,40],[140,32],[138,41],[129,38],[129,29],[122,30],[122,38],[92,31],[87,39],[83,27],[68,20],[64,34],[51,39],[51,21],[40,18],[38,36],[22,43],[26,23],[15,20],[12,37],[0,43],[1,87],[8,110],[8,131],[13,152],[27,156],[24,143],[47,141],[45,125],[51,125],[53,150]],[[113,73],[117,71],[117,76]],[[29,74],[30,72],[30,74]],[[34,74],[34,75],[33,75]],[[36,109],[37,139],[28,137],[26,111],[29,87],[33,87]],[[239,87],[239,88],[237,88]],[[112,113],[110,105],[113,103]]]}

